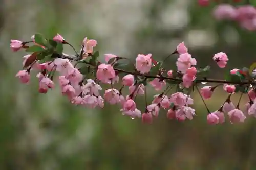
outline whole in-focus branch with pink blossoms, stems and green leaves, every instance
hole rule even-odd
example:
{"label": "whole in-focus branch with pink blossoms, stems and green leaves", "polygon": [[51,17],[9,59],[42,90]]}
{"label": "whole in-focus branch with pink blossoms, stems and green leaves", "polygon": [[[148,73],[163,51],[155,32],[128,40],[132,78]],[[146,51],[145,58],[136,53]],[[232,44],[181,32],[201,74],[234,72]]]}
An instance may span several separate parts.
{"label": "whole in-focus branch with pink blossoms, stems and green leaves", "polygon": [[[64,45],[71,46],[75,55],[63,53]],[[231,123],[244,122],[245,115],[256,115],[256,74],[248,68],[229,70],[224,80],[209,79],[207,74],[210,67],[197,68],[197,60],[188,53],[184,42],[178,44],[176,50],[168,56],[179,56],[177,68],[174,69],[163,67],[163,62],[168,57],[163,61],[156,61],[152,54],[138,54],[135,62],[114,54],[105,54],[105,61],[102,63],[98,60],[99,52],[94,51],[96,45],[96,40],[84,38],[80,52],[77,52],[59,34],[50,39],[35,34],[31,41],[11,40],[10,46],[14,52],[24,49],[31,53],[23,57],[23,70],[18,71],[16,77],[21,83],[28,84],[31,71],[35,71],[39,93],[47,93],[49,89],[53,89],[57,79],[62,95],[67,96],[72,104],[103,108],[107,102],[118,105],[123,115],[132,119],[141,118],[144,123],[152,123],[161,108],[166,110],[168,119],[192,120],[196,113],[190,107],[194,103],[191,92],[198,91],[205,104],[205,100],[211,98],[215,89],[220,86],[228,96],[216,111],[211,112],[205,104],[208,111],[205,117],[209,124],[224,123],[225,114]],[[228,62],[228,56],[224,52],[215,54],[212,59],[220,68],[224,68]],[[123,64],[121,60],[129,62]],[[217,85],[198,88],[206,82]],[[102,85],[108,87],[104,92],[101,92]],[[121,88],[117,89],[118,86]],[[151,102],[147,101],[147,86],[152,86],[159,92]],[[129,89],[129,93],[124,94],[124,88]],[[175,92],[169,94],[172,89]],[[241,93],[236,106],[231,101],[234,93]],[[242,111],[240,101],[244,94],[248,96],[248,103]],[[137,107],[137,95],[145,96],[143,110]]]}

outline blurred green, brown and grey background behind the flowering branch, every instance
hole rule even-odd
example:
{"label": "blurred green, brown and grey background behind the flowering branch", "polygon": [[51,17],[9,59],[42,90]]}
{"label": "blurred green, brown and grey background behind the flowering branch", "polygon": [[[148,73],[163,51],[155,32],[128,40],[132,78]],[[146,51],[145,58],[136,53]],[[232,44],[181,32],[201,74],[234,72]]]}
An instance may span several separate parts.
{"label": "blurred green, brown and grey background behind the flowering branch", "polygon": [[[212,6],[199,7],[196,0],[0,0],[0,169],[256,169],[255,119],[210,126],[196,93],[194,120],[170,121],[162,111],[145,125],[115,106],[75,107],[58,88],[38,94],[36,78],[28,86],[15,78],[26,53],[11,52],[10,39],[30,40],[36,32],[60,33],[77,50],[84,37],[96,39],[102,61],[106,53],[152,53],[161,60],[185,41],[199,67],[211,66],[212,78],[256,61],[255,32],[217,22],[211,13]],[[224,69],[212,62],[220,51],[230,59]],[[73,53],[69,47],[65,52]],[[174,68],[176,59],[168,59],[165,68]],[[210,110],[226,96],[217,90],[206,101]],[[138,101],[143,108],[144,97]]]}

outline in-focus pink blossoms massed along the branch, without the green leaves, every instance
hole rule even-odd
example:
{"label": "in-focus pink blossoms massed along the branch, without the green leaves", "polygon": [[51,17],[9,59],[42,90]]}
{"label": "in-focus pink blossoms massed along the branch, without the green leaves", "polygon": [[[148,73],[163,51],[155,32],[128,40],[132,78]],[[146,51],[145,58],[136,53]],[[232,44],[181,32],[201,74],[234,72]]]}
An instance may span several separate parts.
{"label": "in-focus pink blossoms massed along the branch, without the green leaves", "polygon": [[[33,39],[33,37],[32,37]],[[57,34],[53,41],[62,44],[69,44],[61,35]],[[14,44],[15,43],[15,44]],[[32,43],[35,43],[34,40]],[[18,45],[20,44],[20,45]],[[11,48],[13,51],[18,51],[23,48],[23,42],[18,40],[11,40]],[[38,45],[38,44],[37,44]],[[89,40],[84,38],[82,42],[81,55],[82,58],[71,58],[67,55],[60,55],[52,61],[40,63],[40,60],[31,62],[29,65],[27,60],[31,60],[31,55],[24,56],[23,66],[24,70],[18,71],[16,77],[19,78],[21,83],[28,84],[30,81],[30,72],[34,70],[37,72],[38,78],[38,91],[39,93],[47,93],[49,89],[55,87],[55,78],[58,80],[58,85],[61,88],[62,95],[67,96],[69,101],[74,105],[82,105],[90,108],[104,107],[107,102],[110,105],[118,105],[123,115],[130,116],[132,119],[141,118],[144,123],[152,123],[153,118],[157,118],[160,109],[167,110],[168,119],[176,119],[184,121],[186,119],[192,120],[196,115],[195,110],[190,106],[194,104],[190,92],[185,93],[176,90],[173,94],[168,94],[172,86],[178,86],[183,89],[198,88],[198,83],[206,81],[207,78],[200,80],[197,76],[200,75],[200,69],[196,68],[197,61],[188,53],[185,43],[180,43],[175,53],[179,57],[176,62],[176,70],[166,70],[162,66],[156,73],[151,73],[153,68],[157,67],[159,62],[156,62],[152,54],[139,54],[135,59],[135,70],[122,70],[115,66],[118,64],[120,57],[114,54],[105,54],[105,63],[95,60],[96,64],[90,62],[93,55],[93,48],[97,45],[96,40]],[[43,46],[44,47],[44,46]],[[44,47],[45,49],[46,47]],[[84,57],[86,56],[86,57]],[[76,56],[78,57],[78,56]],[[114,59],[112,61],[112,59]],[[220,52],[213,56],[213,61],[217,63],[220,68],[224,68],[228,62],[228,57],[225,53]],[[112,62],[110,62],[110,60]],[[95,73],[94,78],[88,78],[87,74],[82,75],[79,68],[77,68],[78,61],[88,65],[89,72]],[[239,69],[230,71],[230,75],[237,75],[241,72]],[[120,73],[125,73],[119,82]],[[167,76],[164,76],[166,74]],[[167,83],[171,81],[167,86]],[[211,82],[214,82],[211,80]],[[219,82],[219,81],[216,81]],[[109,84],[109,89],[102,91],[101,84]],[[121,84],[122,87],[118,90],[114,85]],[[145,100],[145,107],[139,110],[136,104],[137,95],[146,96],[146,86],[151,85],[156,91],[163,90],[154,96],[153,101],[147,104]],[[228,99],[215,112],[210,113],[208,110],[207,122],[209,124],[221,124],[225,122],[225,114],[230,119],[230,122],[244,122],[245,115],[239,109],[239,104],[234,107],[230,100],[230,96],[236,93],[236,84],[229,81],[222,83],[224,91],[229,94]],[[248,84],[249,85],[249,84]],[[167,87],[166,87],[167,86]],[[217,85],[219,86],[219,85]],[[217,86],[204,86],[200,90],[200,95],[203,100],[211,98]],[[123,94],[124,88],[129,89],[128,94]],[[251,89],[248,91],[249,102],[246,105],[245,112],[248,115],[256,117],[256,90]]]}

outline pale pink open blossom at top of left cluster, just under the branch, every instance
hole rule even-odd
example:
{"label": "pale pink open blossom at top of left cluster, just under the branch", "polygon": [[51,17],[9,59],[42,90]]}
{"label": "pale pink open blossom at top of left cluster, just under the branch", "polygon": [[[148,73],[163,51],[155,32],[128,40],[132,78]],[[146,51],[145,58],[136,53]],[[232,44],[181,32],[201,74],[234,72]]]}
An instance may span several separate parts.
{"label": "pale pink open blossom at top of left cluster, just under the branch", "polygon": [[70,75],[74,71],[74,66],[68,59],[57,58],[53,62],[56,65],[56,71],[62,76]]}

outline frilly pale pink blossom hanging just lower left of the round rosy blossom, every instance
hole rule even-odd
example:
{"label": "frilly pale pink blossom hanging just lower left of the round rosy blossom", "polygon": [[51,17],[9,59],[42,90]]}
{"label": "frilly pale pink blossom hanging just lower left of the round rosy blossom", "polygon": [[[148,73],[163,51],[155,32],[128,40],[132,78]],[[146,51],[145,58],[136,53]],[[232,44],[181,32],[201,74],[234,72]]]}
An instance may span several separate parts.
{"label": "frilly pale pink blossom hanging just lower left of the round rosy blossom", "polygon": [[94,80],[87,79],[87,84],[81,87],[84,94],[99,95],[99,90],[102,90],[101,86],[96,84]]}

